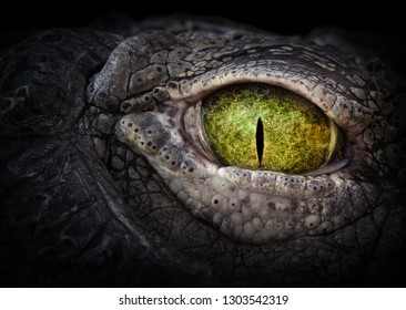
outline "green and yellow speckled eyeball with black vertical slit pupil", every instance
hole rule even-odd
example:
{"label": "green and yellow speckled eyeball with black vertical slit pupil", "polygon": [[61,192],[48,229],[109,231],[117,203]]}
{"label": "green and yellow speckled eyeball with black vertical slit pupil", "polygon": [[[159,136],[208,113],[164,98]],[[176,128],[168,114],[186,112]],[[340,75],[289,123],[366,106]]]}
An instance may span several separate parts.
{"label": "green and yellow speckled eyeball with black vertical slit pupil", "polygon": [[324,166],[336,144],[334,123],[285,89],[240,84],[203,101],[209,144],[224,166],[304,173]]}

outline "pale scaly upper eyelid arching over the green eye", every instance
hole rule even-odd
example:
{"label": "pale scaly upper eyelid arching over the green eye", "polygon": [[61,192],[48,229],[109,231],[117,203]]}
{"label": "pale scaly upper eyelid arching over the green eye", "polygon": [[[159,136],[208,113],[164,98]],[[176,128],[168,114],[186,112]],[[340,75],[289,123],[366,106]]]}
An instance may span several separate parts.
{"label": "pale scaly upper eyelid arching over the green eye", "polygon": [[[272,61],[270,62],[272,63]],[[364,90],[347,79],[349,75],[345,75],[345,79],[338,75],[341,81],[334,82],[332,79],[314,75],[316,73],[321,74],[321,71],[307,71],[306,74],[303,74],[286,64],[277,70],[273,65],[244,69],[225,65],[215,71],[203,73],[193,80],[172,81],[169,83],[168,91],[174,101],[195,103],[214,91],[235,83],[254,82],[276,85],[300,94],[316,104],[344,131],[363,132],[371,123],[369,117],[365,116],[371,115],[372,110],[362,104],[353,92],[362,97],[376,93],[372,92],[367,95]],[[342,73],[342,75],[344,74]],[[358,79],[361,78],[358,76]]]}

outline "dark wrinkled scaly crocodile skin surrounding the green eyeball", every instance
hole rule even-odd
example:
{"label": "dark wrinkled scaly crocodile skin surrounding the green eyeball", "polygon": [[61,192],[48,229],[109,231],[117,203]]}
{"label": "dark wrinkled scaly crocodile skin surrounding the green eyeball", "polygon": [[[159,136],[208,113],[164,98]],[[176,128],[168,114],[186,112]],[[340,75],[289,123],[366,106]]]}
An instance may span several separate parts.
{"label": "dark wrinkled scaly crocodile skin surrounding the green eyeball", "polygon": [[[405,104],[386,65],[363,52],[348,56],[358,51],[353,45],[324,46],[322,37],[313,38],[317,45],[240,25],[169,19],[112,32],[51,30],[1,54],[2,286],[404,283]],[[285,218],[276,210],[278,220],[300,229],[286,226],[262,239],[248,229],[237,234],[227,211],[200,195],[203,187],[213,197],[217,193],[210,179],[221,166],[196,151],[177,116],[185,114],[180,106],[193,106],[222,79],[296,91],[349,141],[344,167],[290,176],[307,187],[333,180],[333,189],[298,193],[221,174],[240,193],[283,197],[288,210]],[[351,105],[348,115],[332,100],[338,95]],[[159,115],[169,115],[169,124]],[[176,132],[175,167],[141,146],[126,131],[129,122],[139,122],[141,132],[165,132],[165,138]],[[166,140],[152,136],[158,149]],[[184,163],[193,175],[183,173]],[[196,197],[173,185],[203,178],[209,180]],[[317,210],[300,213],[298,206],[311,208],[311,199]],[[252,200],[241,204],[254,214]],[[317,219],[316,228],[306,227],[309,218]]]}

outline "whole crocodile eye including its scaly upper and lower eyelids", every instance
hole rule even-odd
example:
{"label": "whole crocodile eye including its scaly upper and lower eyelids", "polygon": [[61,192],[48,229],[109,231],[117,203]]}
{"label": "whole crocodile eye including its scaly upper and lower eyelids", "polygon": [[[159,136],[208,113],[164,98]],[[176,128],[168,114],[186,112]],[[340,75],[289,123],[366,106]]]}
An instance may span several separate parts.
{"label": "whole crocodile eye including its scaly upper and lower eyelids", "polygon": [[255,51],[173,76],[155,106],[120,118],[118,140],[193,216],[238,242],[328,234],[371,211],[385,130],[374,135],[384,116],[368,104],[379,95],[338,55],[327,65],[296,45],[286,56]]}

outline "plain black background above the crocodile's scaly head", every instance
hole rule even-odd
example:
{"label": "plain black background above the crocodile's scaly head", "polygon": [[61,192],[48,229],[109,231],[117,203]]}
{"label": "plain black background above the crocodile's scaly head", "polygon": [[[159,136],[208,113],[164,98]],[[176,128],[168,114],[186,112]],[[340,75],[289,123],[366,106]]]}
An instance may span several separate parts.
{"label": "plain black background above the crocodile's scaly head", "polygon": [[[319,3],[317,4],[317,2]],[[388,34],[403,33],[406,16],[399,4],[394,4],[390,1],[376,4],[372,1],[362,2],[365,3],[348,0],[314,2],[287,0],[111,0],[94,3],[85,1],[22,3],[14,0],[14,2],[3,3],[0,11],[0,22],[1,32],[4,34],[9,31],[27,28],[83,27],[102,14],[124,11],[134,19],[171,13],[226,17],[282,34],[303,34],[315,27],[326,24],[349,30],[379,31]]]}

